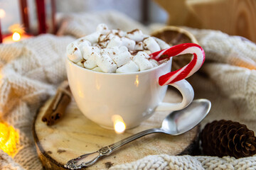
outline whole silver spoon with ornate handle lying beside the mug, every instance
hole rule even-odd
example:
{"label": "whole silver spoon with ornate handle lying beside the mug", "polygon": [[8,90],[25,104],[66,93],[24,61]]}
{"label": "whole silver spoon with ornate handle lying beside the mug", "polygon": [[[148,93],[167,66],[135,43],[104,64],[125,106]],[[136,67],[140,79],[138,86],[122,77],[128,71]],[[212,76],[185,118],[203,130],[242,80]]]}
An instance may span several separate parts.
{"label": "whole silver spoon with ornate handle lying beside the mug", "polygon": [[167,115],[162,122],[161,128],[144,130],[112,145],[102,147],[97,152],[83,154],[78,158],[71,159],[64,166],[68,169],[81,169],[82,167],[91,166],[97,162],[100,157],[107,156],[117,148],[122,147],[122,145],[151,133],[161,132],[168,135],[181,135],[198,125],[210,111],[210,106],[211,103],[207,99],[201,98],[194,100],[186,108],[183,108],[180,111],[174,111]]}

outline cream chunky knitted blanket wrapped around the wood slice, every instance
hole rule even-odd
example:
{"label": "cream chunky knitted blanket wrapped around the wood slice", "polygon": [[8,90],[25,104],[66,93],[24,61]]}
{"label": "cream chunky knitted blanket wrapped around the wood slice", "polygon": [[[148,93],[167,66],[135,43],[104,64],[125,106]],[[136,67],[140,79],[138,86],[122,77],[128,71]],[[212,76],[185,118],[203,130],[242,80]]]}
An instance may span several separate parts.
{"label": "cream chunky knitted blanket wrapped around the wood slice", "polygon": [[[0,45],[0,123],[18,132],[16,153],[10,156],[0,149],[0,169],[43,169],[33,144],[31,127],[41,103],[65,80],[65,47],[69,42],[92,33],[98,23],[110,28],[150,33],[151,28],[122,13],[80,13],[62,16],[59,35]],[[68,18],[68,19],[67,19]],[[256,45],[245,38],[216,30],[186,28],[196,35],[206,51],[206,63],[188,79],[195,98],[212,102],[202,125],[220,119],[235,120],[256,132]],[[256,156],[208,157],[189,155],[150,155],[110,169],[256,169]]]}

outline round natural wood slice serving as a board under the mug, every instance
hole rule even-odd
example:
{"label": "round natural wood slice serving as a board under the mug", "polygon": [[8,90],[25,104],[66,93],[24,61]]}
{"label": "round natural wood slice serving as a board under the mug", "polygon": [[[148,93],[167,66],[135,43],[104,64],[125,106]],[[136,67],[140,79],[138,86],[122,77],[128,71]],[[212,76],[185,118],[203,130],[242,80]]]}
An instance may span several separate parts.
{"label": "round natural wood slice serving as a board under the mug", "polygon": [[[170,96],[174,96],[174,98]],[[79,111],[75,101],[70,103],[64,117],[58,123],[47,126],[41,118],[50,100],[38,111],[33,125],[38,157],[45,169],[65,169],[63,165],[68,160],[81,154],[95,152],[142,130],[159,128],[161,121],[169,114],[166,112],[154,113],[139,127],[117,135],[113,130],[103,129],[88,120]],[[170,102],[179,100],[180,96],[171,90],[167,92],[164,99],[164,101]],[[176,137],[164,134],[147,135],[121,147],[110,156],[100,159],[88,169],[108,169],[110,166],[134,162],[150,154],[191,154],[198,148],[198,131],[199,128],[196,127]]]}

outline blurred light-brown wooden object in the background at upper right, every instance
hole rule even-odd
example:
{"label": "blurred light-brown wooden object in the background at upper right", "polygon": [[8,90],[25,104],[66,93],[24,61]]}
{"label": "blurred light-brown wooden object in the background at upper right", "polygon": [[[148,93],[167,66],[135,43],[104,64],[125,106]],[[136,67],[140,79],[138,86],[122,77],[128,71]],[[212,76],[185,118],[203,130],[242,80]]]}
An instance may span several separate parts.
{"label": "blurred light-brown wooden object in the background at upper right", "polygon": [[154,1],[169,13],[169,25],[221,30],[256,42],[255,0]]}

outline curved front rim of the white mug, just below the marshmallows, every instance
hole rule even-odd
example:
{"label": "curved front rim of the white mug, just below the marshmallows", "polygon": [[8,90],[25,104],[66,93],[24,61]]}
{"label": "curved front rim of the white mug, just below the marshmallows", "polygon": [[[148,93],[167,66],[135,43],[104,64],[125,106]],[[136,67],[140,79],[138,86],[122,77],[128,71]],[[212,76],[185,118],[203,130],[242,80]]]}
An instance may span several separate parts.
{"label": "curved front rim of the white mug, just below the marshmallows", "polygon": [[[160,69],[161,67],[164,67],[167,63],[169,63],[171,61],[171,58],[169,58],[169,60],[167,60],[166,62],[163,62],[161,64],[159,64],[159,66],[157,67],[153,67],[151,69],[146,69],[143,71],[139,71],[139,72],[129,72],[129,73],[106,73],[106,72],[96,72],[93,71],[91,69],[86,69],[83,67],[78,66],[78,64],[75,64],[74,62],[72,62],[71,60],[68,59],[68,57],[65,58],[68,62],[70,62],[73,66],[78,67],[78,69],[84,70],[85,72],[92,72],[92,73],[97,73],[97,74],[106,74],[106,75],[131,75],[131,74],[143,74],[143,73],[147,73],[147,72],[153,72],[156,69]],[[170,70],[171,72],[171,70]]]}

